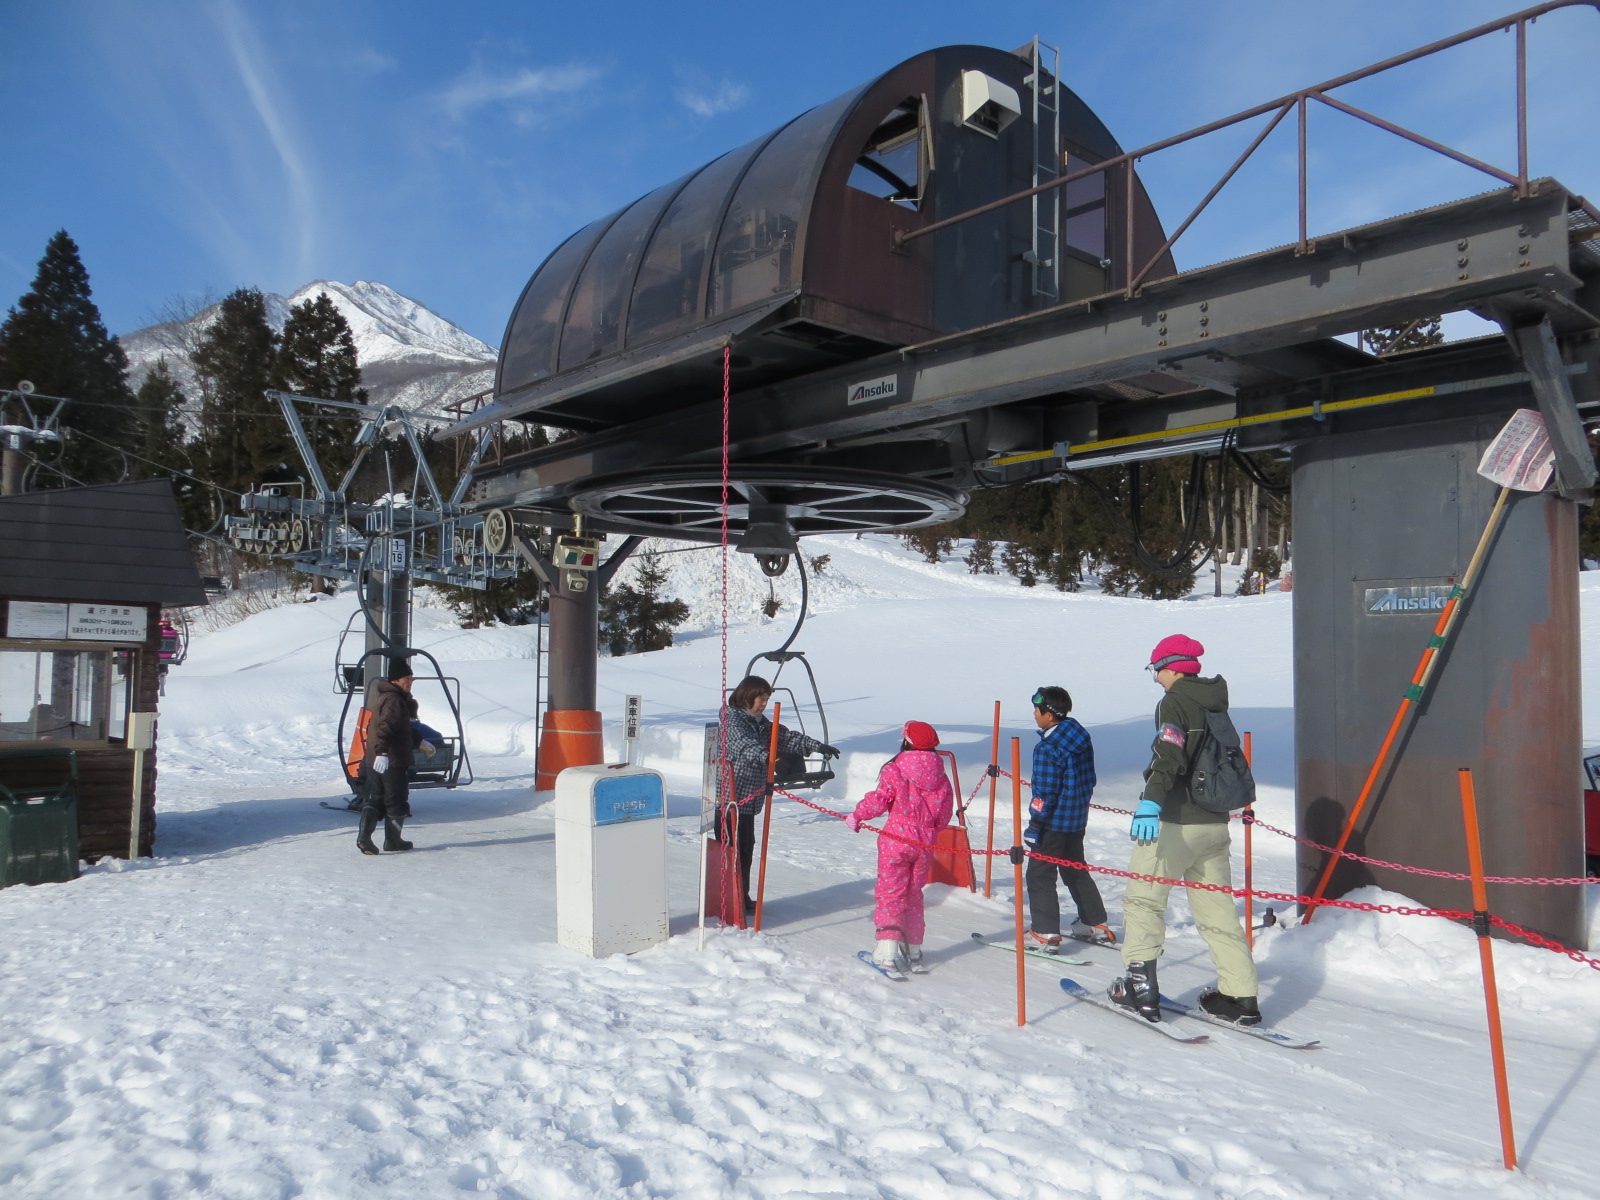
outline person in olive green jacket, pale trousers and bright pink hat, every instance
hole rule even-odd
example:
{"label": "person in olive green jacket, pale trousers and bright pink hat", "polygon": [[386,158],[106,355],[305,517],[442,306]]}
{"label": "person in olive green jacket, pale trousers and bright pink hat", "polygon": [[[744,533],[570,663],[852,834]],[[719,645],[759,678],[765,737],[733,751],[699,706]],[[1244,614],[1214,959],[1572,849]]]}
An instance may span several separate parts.
{"label": "person in olive green jacket, pale trousers and bright pink hat", "polygon": [[[1144,770],[1144,792],[1130,834],[1128,870],[1194,883],[1232,886],[1227,813],[1211,813],[1189,800],[1189,773],[1205,736],[1206,712],[1227,712],[1227,680],[1200,678],[1205,646],[1173,634],[1150,653],[1146,667],[1166,691],[1155,709],[1155,741]],[[1226,891],[1187,888],[1189,910],[1216,963],[1218,986],[1200,994],[1200,1006],[1224,1021],[1261,1024],[1256,963]],[[1160,1021],[1155,960],[1166,941],[1170,883],[1130,880],[1123,894],[1122,960],[1126,974],[1110,986],[1110,998],[1146,1021]]]}

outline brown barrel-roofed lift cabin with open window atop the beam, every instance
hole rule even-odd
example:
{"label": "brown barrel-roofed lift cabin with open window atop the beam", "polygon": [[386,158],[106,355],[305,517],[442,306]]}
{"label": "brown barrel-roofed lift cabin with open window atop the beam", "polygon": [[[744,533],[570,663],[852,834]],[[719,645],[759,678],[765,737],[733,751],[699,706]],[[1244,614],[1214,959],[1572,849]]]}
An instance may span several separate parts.
{"label": "brown barrel-roofed lift cabin with open window atop the beam", "polygon": [[[1106,293],[1126,272],[1117,171],[894,234],[1117,154],[1034,46],[930,50],[566,238],[512,312],[477,421],[610,429],[718,392],[730,339],[746,389]],[[1134,187],[1144,261],[1165,235]]]}

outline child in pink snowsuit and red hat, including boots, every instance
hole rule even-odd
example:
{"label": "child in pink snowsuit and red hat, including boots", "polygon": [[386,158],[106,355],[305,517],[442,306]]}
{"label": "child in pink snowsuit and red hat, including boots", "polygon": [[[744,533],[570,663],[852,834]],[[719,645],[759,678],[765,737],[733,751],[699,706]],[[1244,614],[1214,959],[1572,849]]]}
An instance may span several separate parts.
{"label": "child in pink snowsuit and red hat, including boots", "polygon": [[955,794],[934,750],[939,734],[926,722],[906,722],[901,749],[883,763],[878,786],[867,792],[845,824],[851,832],[862,821],[890,814],[878,837],[878,883],[874,890],[877,942],[872,963],[891,979],[906,971],[922,973],[925,930],[922,890],[933,870],[933,845],[950,824]]}

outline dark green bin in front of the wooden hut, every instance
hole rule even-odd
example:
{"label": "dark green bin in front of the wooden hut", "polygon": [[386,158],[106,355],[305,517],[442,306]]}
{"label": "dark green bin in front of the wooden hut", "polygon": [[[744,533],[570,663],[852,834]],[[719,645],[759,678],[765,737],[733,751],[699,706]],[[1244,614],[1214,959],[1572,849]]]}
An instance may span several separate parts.
{"label": "dark green bin in front of the wooden hut", "polygon": [[78,877],[78,755],[0,750],[0,888]]}

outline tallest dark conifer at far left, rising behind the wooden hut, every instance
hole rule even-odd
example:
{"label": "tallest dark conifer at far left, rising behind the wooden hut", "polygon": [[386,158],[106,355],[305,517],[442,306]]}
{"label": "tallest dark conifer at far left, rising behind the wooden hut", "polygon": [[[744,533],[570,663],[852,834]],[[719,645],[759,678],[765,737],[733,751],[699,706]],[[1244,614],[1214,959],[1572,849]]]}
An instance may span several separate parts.
{"label": "tallest dark conifer at far left, rising behind the wooden hut", "polygon": [[90,298],[78,246],[62,229],[45,246],[34,286],[0,323],[0,387],[27,379],[43,395],[66,397],[61,470],[82,483],[110,483],[123,474],[114,446],[131,422],[126,371],[128,357]]}

